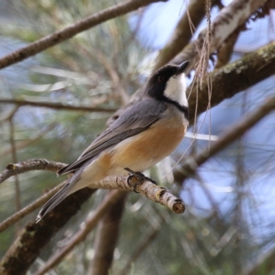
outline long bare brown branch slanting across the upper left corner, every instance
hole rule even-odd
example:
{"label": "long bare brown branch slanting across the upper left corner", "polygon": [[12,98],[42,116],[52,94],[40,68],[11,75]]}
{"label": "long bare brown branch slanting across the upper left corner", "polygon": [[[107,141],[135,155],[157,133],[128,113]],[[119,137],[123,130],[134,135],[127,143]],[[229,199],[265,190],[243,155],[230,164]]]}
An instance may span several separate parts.
{"label": "long bare brown branch slanting across the upper left corner", "polygon": [[113,19],[115,17],[119,17],[128,12],[133,12],[133,10],[137,10],[138,8],[144,7],[145,5],[149,5],[150,3],[155,3],[158,1],[165,0],[130,0],[125,3],[120,3],[118,5],[113,5],[110,8],[102,10],[96,14],[91,15],[83,20],[78,21],[78,23],[69,25],[67,28],[60,30],[58,32],[54,32],[54,34],[50,34],[48,36],[35,41],[34,43],[30,43],[25,47],[21,47],[21,49],[16,50],[6,56],[0,58],[0,69],[4,67],[8,67],[14,63],[23,61],[25,58],[30,56],[34,56],[39,52],[43,52],[49,47],[57,45],[67,39],[71,39],[76,34],[93,28],[94,26]]}

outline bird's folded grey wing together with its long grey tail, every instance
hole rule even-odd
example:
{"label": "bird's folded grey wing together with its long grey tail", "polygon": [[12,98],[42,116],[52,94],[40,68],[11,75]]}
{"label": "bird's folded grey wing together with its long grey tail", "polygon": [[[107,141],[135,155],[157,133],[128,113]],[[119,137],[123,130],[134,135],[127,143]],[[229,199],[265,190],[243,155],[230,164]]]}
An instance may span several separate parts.
{"label": "bird's folded grey wing together with its long grey tail", "polygon": [[96,155],[106,148],[125,140],[127,137],[137,135],[137,133],[148,129],[148,127],[159,120],[166,109],[167,107],[164,102],[143,100],[122,113],[120,118],[113,122],[109,129],[97,137],[83,154],[80,155],[76,162],[58,171],[58,175],[61,175],[78,169],[67,181],[67,184],[59,190],[54,197],[47,201],[45,206],[43,206],[37,216],[36,222],[40,221],[47,212],[50,212],[50,210],[56,207],[65,197],[67,197],[67,195],[69,195],[70,190],[72,190],[73,186],[80,180],[85,167],[93,161]]}

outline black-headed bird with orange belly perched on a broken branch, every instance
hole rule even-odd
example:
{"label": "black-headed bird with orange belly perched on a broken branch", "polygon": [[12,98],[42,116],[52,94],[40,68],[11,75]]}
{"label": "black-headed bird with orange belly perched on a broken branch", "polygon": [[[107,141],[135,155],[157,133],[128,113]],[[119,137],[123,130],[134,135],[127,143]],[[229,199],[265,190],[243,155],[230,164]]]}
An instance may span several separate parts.
{"label": "black-headed bird with orange belly perched on a broken branch", "polygon": [[41,208],[36,222],[77,190],[105,177],[125,175],[126,171],[142,175],[140,171],[175,150],[189,124],[184,74],[188,63],[158,69],[148,79],[142,100],[96,137],[76,162],[58,170],[57,175],[74,174]]}

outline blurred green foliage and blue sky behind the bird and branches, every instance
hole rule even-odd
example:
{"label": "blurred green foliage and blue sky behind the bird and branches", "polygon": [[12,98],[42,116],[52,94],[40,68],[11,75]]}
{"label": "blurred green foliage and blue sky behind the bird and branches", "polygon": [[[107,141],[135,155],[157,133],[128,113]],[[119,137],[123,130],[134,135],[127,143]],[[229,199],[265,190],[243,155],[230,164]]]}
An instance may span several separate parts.
{"label": "blurred green foliage and blue sky behind the bird and branches", "polygon": [[[0,0],[0,56],[117,2],[120,1]],[[26,159],[74,162],[106,128],[113,111],[129,102],[145,83],[189,2],[151,4],[1,69],[0,170],[8,163]],[[223,0],[213,5],[211,21],[223,5],[230,3]],[[206,25],[203,19],[192,40]],[[274,26],[274,10],[263,18],[247,21],[234,43],[230,62],[274,41]],[[212,56],[210,70],[216,61],[217,56]],[[194,75],[192,71],[188,76],[188,85]],[[196,177],[183,183],[180,176],[188,155],[214,143],[208,135],[219,136],[227,127],[234,127],[245,113],[274,95],[274,87],[275,78],[271,76],[202,113],[188,131],[204,134],[206,139],[185,137],[173,155],[146,171],[146,175],[183,199],[186,212],[174,214],[140,195],[129,194],[122,217],[114,221],[120,226],[120,234],[109,274],[275,274],[274,113],[208,159],[197,169]],[[18,107],[3,104],[3,99],[34,104]],[[48,107],[41,107],[41,103]],[[56,109],[54,104],[94,107],[95,111]],[[176,183],[173,173],[175,178],[177,175]],[[44,171],[4,181],[0,186],[0,221],[60,182],[55,173]],[[54,236],[29,274],[70,240],[87,214],[100,204],[104,193],[98,190]],[[0,234],[0,256],[37,213]],[[96,236],[96,231],[91,232],[47,274],[88,274]]]}

